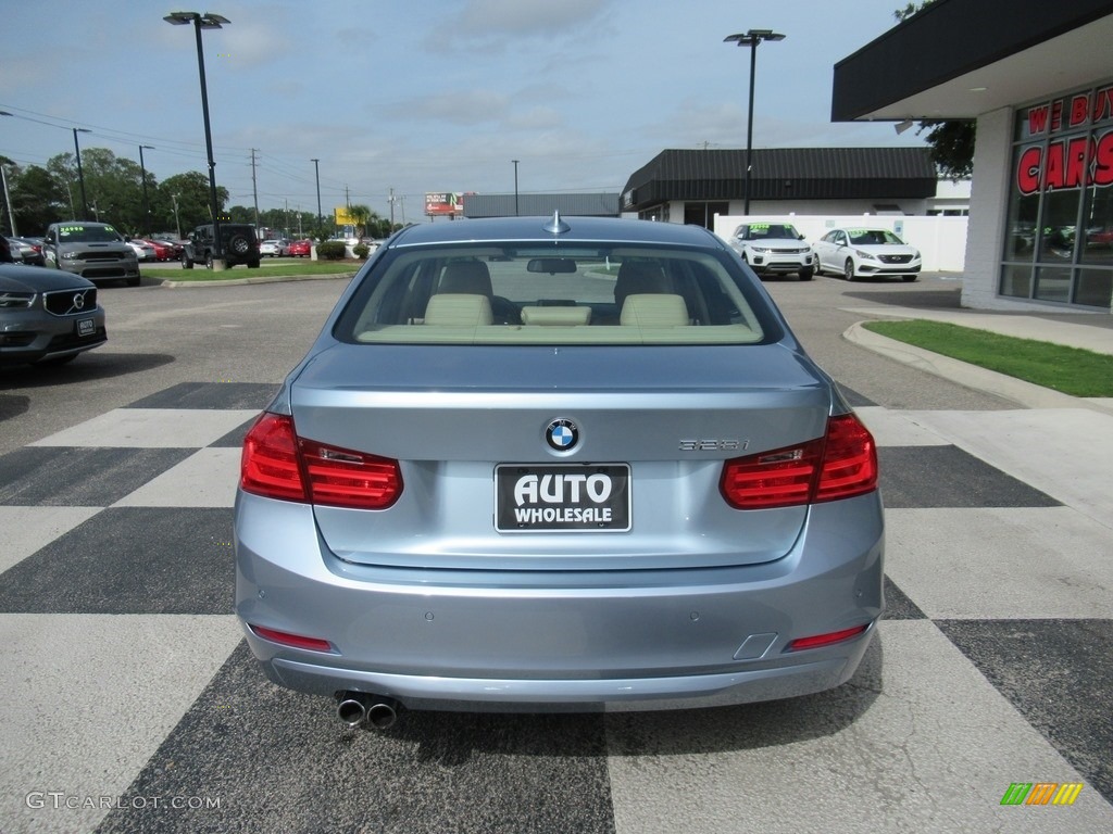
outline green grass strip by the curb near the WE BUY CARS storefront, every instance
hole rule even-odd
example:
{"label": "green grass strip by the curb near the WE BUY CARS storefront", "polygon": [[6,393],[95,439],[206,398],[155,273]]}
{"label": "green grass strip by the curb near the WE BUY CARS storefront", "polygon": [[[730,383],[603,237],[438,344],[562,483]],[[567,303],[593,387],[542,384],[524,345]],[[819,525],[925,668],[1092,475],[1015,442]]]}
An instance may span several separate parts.
{"label": "green grass strip by the curb near the WE BUY CARS storefront", "polygon": [[881,336],[1073,397],[1113,397],[1113,356],[942,321],[867,321]]}

